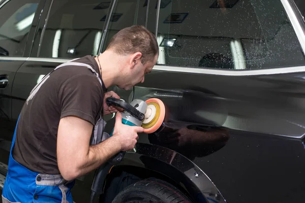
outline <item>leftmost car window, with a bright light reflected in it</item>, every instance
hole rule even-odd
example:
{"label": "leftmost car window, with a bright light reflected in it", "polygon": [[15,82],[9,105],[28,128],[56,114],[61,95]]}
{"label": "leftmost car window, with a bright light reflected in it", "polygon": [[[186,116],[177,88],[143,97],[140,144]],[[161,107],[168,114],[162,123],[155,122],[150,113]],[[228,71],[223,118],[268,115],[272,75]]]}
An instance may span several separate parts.
{"label": "leftmost car window, with a bright light reflected in it", "polygon": [[22,56],[39,0],[0,4],[0,56]]}

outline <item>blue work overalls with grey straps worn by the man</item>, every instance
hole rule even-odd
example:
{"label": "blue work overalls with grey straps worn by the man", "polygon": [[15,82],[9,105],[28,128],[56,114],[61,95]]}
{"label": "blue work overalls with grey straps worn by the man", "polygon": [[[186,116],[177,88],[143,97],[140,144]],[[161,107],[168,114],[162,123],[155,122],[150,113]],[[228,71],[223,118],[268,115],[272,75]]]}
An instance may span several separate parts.
{"label": "blue work overalls with grey straps worn by the man", "polygon": [[[94,71],[94,69],[92,69],[92,67],[84,63],[66,62],[62,65],[57,66],[56,69],[66,65],[87,66],[88,69],[92,70],[94,74],[97,75],[98,77],[98,74]],[[39,89],[39,87],[44,83],[44,81],[48,78],[48,76],[49,74],[43,79],[43,81],[41,81],[39,84],[35,86],[31,94],[29,95],[28,99],[33,98],[33,96],[35,95],[35,91],[37,91],[36,88]],[[74,186],[75,180],[66,181],[60,174],[48,175],[48,174],[36,173],[31,170],[28,170],[28,168],[24,167],[23,165],[21,165],[20,163],[14,160],[12,156],[12,151],[15,145],[16,130],[17,130],[19,118],[17,120],[15,132],[13,136],[10,157],[9,157],[8,173],[3,188],[2,202],[3,203],[9,203],[9,202],[73,203],[71,189]],[[98,144],[103,140],[107,139],[107,137],[109,137],[109,134],[103,133],[105,124],[106,122],[100,116],[100,119],[98,120],[98,122],[94,127],[94,136],[92,136],[90,141],[92,145]]]}

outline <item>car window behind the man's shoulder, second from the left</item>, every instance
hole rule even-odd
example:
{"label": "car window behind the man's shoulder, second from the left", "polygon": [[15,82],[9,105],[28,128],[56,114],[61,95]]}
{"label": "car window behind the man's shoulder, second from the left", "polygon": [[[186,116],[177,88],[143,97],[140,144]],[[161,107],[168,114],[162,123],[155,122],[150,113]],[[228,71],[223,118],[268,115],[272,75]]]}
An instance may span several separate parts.
{"label": "car window behind the man's shoulder, second from the left", "polygon": [[97,55],[110,1],[54,1],[39,57],[77,58]]}

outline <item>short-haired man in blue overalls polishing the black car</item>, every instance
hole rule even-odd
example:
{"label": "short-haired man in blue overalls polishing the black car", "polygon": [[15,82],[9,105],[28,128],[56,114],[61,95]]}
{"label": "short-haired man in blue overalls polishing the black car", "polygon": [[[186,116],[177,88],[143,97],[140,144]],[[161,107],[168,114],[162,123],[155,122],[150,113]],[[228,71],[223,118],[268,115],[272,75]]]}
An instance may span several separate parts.
{"label": "short-haired man in blue overalls polishing the black car", "polygon": [[[143,128],[122,124],[120,112],[105,104],[107,97],[119,96],[104,93],[112,85],[128,90],[143,83],[158,55],[155,36],[131,26],[116,33],[98,57],[72,60],[47,75],[20,113],[3,202],[73,202],[70,190],[77,177],[133,149]],[[99,143],[101,112],[117,114],[113,136]]]}

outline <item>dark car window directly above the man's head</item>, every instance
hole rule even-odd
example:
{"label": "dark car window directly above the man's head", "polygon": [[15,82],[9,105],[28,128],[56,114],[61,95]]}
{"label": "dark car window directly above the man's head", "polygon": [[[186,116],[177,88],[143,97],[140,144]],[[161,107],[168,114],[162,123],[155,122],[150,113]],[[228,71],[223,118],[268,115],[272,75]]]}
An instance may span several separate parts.
{"label": "dark car window directly above the man's head", "polygon": [[[157,0],[118,0],[113,9],[107,36],[104,42],[103,51],[107,48],[111,38],[120,29],[129,27],[132,25],[143,25],[146,26],[151,32],[155,33],[156,27],[156,5]],[[148,7],[148,16],[146,22],[146,13]]]}

